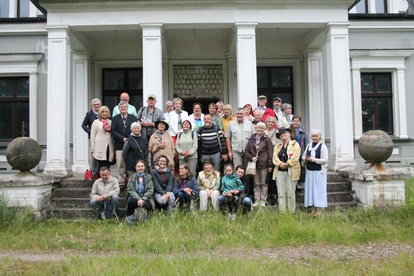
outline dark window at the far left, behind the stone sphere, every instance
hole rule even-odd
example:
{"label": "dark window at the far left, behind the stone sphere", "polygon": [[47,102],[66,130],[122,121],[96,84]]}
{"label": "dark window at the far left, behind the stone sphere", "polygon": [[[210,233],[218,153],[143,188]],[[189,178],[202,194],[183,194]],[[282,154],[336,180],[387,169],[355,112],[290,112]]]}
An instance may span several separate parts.
{"label": "dark window at the far left, behind the stone sphere", "polygon": [[29,77],[0,77],[0,141],[29,136]]}

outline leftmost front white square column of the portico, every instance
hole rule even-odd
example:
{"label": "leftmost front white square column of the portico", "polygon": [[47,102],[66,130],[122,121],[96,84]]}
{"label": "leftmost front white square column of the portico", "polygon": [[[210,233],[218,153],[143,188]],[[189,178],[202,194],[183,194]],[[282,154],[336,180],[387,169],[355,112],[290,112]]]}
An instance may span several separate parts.
{"label": "leftmost front white square column of the portico", "polygon": [[69,26],[48,29],[48,115],[47,164],[44,173],[70,176],[69,101],[70,31]]}

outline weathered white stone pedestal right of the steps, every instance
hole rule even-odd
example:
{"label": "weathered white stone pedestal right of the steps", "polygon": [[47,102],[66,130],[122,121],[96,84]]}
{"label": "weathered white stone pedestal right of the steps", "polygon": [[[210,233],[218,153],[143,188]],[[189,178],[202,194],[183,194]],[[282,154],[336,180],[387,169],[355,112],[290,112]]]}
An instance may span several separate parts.
{"label": "weathered white stone pedestal right of the steps", "polygon": [[405,204],[407,174],[391,169],[378,170],[375,165],[349,172],[352,191],[364,209],[396,207]]}

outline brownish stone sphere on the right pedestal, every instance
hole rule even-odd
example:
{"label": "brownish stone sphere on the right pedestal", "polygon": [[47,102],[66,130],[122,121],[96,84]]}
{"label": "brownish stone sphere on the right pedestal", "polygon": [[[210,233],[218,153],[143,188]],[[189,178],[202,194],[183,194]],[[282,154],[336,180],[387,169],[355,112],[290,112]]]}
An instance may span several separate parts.
{"label": "brownish stone sphere on the right pedestal", "polygon": [[371,164],[381,164],[393,153],[393,140],[382,130],[365,132],[358,143],[361,157]]}

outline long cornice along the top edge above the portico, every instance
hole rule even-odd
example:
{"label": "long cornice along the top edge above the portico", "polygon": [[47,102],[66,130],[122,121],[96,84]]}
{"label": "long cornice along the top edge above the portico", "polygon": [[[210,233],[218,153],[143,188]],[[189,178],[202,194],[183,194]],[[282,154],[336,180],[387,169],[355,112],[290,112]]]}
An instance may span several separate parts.
{"label": "long cornice along the top edge above the portico", "polygon": [[48,13],[162,9],[347,9],[354,0],[38,0]]}

